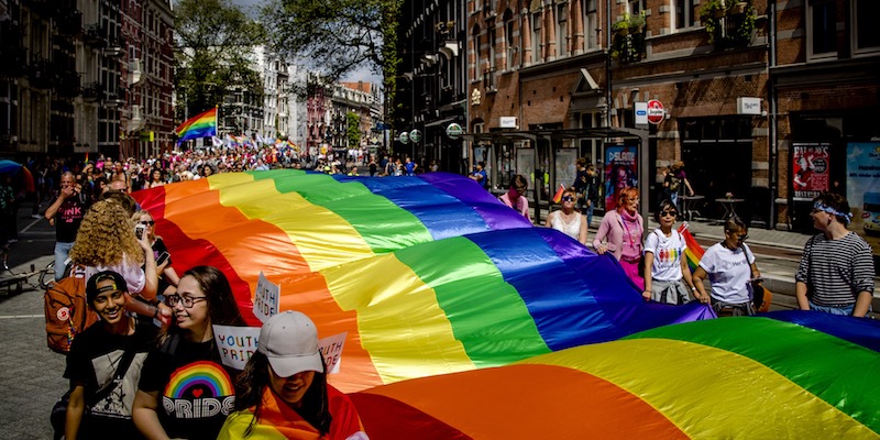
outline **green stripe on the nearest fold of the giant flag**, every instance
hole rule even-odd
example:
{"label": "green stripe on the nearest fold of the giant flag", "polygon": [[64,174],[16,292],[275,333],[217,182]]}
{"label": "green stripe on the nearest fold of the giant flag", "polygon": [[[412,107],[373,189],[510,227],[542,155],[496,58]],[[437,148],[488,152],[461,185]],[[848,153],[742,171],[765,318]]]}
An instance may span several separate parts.
{"label": "green stripe on the nearest fold of the giant flag", "polygon": [[[870,349],[795,323],[755,317],[667,326],[625,339],[656,338],[751,359],[880,432],[880,356]],[[843,365],[851,369],[842,370]]]}

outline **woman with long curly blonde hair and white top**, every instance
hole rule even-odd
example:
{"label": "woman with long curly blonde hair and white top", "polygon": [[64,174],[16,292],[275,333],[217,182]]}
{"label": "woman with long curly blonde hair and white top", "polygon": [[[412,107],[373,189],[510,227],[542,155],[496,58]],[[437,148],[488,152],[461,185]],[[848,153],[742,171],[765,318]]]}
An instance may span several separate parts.
{"label": "woman with long curly blonde hair and white top", "polygon": [[120,204],[101,200],[82,219],[70,261],[86,267],[86,279],[101,271],[117,272],[129,292],[155,302],[158,275],[148,240],[147,234],[140,240],[134,235],[134,223]]}

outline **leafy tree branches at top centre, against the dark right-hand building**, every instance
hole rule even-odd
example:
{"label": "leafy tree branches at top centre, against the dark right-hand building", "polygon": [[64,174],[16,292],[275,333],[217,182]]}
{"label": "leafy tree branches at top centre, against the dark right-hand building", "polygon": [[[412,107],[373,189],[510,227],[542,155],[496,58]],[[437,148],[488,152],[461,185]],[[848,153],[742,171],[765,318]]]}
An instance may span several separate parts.
{"label": "leafy tree branches at top centre, against the dark right-hand building", "polygon": [[369,66],[394,90],[403,0],[268,0],[262,21],[273,48],[334,82]]}

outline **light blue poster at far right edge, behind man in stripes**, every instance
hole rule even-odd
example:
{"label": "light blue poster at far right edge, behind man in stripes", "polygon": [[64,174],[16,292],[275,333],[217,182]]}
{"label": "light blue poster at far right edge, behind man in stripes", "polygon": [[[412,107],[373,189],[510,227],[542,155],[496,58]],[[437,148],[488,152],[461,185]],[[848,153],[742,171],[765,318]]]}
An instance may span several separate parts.
{"label": "light blue poster at far right edge, behind man in stripes", "polygon": [[846,146],[846,200],[853,212],[849,230],[880,254],[880,142]]}

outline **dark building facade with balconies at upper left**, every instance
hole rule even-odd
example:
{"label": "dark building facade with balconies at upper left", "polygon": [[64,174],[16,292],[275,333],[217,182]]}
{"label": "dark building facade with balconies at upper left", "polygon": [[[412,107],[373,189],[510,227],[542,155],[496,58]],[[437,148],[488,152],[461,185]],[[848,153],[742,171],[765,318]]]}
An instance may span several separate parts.
{"label": "dark building facade with balconies at upper left", "polygon": [[122,157],[169,141],[172,25],[168,1],[0,3],[13,65],[0,73],[0,152]]}

